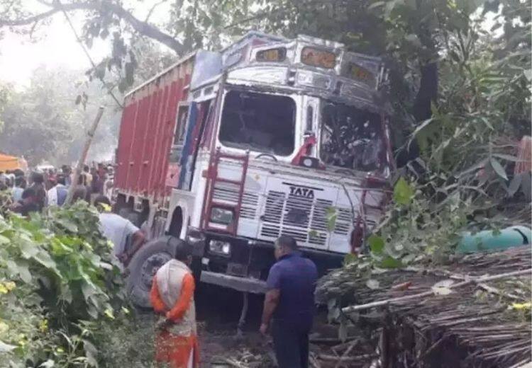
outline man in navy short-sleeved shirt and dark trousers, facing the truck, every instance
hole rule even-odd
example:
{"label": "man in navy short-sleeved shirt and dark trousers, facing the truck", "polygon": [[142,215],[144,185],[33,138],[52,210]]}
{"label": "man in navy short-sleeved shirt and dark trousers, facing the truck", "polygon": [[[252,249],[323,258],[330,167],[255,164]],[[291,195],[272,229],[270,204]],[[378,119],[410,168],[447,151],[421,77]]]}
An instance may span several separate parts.
{"label": "man in navy short-sleeved shirt and dark trousers, facing the truck", "polygon": [[301,257],[292,236],[275,241],[277,263],[270,269],[260,332],[273,316],[272,337],[279,368],[309,367],[309,332],[314,319],[316,265]]}

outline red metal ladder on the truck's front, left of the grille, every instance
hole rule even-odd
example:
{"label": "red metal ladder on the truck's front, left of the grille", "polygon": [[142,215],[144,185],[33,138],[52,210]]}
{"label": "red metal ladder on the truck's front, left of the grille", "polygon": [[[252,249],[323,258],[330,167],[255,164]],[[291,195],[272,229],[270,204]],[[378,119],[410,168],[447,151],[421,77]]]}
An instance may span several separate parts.
{"label": "red metal ladder on the truck's front, left of the grille", "polygon": [[[238,220],[240,219],[240,208],[242,207],[242,199],[244,196],[245,176],[248,173],[249,151],[245,155],[226,154],[221,151],[220,147],[216,149],[214,155],[211,155],[209,160],[209,168],[207,170],[207,185],[205,190],[205,205],[204,212],[201,216],[201,228],[204,230],[223,231],[226,234],[236,235],[238,230]],[[221,178],[218,176],[218,166],[221,159],[231,160],[232,163],[239,163],[241,168],[240,180],[233,180],[229,178]],[[215,200],[214,192],[217,183],[226,183],[237,189],[238,195],[236,201],[227,200],[220,202]],[[219,188],[218,188],[219,189]],[[211,225],[211,211],[214,207],[229,209],[233,211],[233,222],[223,229],[223,226]]]}

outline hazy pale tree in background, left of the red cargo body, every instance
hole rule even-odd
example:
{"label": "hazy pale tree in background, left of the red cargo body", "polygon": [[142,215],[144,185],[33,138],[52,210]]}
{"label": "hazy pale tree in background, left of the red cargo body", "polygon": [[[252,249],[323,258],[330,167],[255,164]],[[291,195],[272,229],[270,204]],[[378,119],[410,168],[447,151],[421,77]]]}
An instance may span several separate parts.
{"label": "hazy pale tree in background, left of the red cargo body", "polygon": [[[11,91],[4,111],[0,111],[0,120],[4,121],[0,134],[2,151],[25,156],[31,165],[41,161],[71,163],[79,158],[84,132],[94,119],[96,108],[103,104],[107,108],[104,119],[109,124],[97,132],[91,153],[95,159],[109,159],[109,147],[116,145],[118,131],[116,105],[96,82],[79,81],[80,74],[41,67],[33,73],[28,88]],[[86,108],[74,104],[81,91],[90,96]],[[95,155],[99,152],[103,154]]]}

